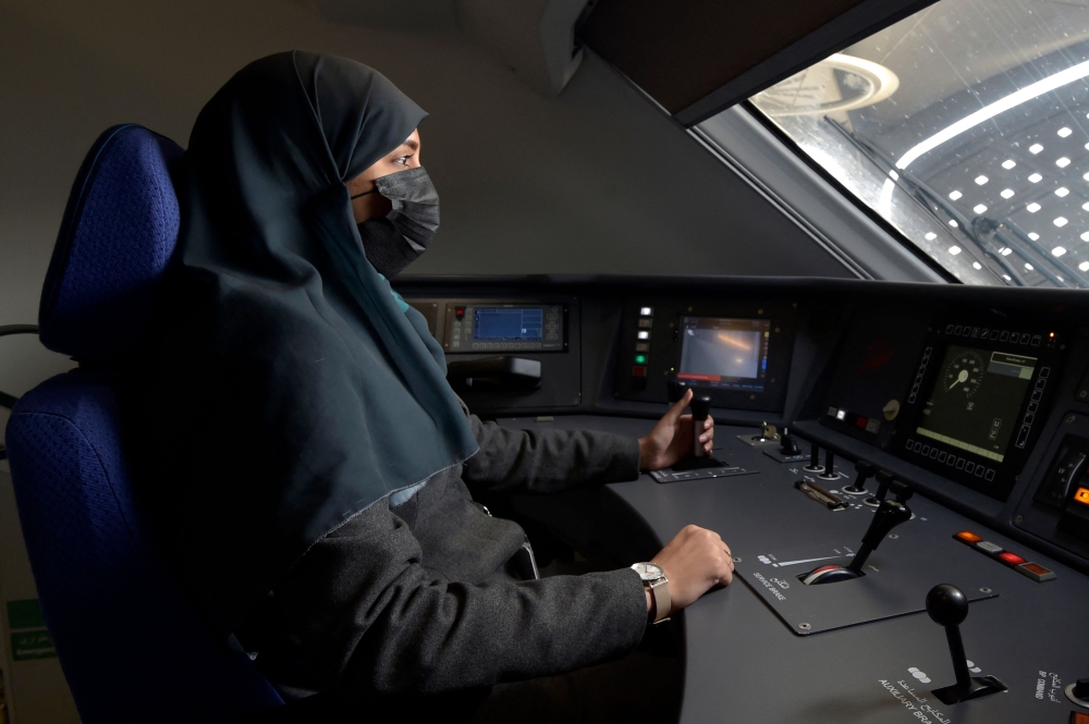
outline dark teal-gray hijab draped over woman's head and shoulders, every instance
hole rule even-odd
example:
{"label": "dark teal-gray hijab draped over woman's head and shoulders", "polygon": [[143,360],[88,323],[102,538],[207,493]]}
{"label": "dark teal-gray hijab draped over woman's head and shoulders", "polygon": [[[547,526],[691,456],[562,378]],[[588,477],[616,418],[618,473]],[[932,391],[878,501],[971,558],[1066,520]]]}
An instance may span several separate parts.
{"label": "dark teal-gray hijab draped over woman's head and shoulders", "polygon": [[476,451],[344,186],[425,115],[366,65],[295,51],[247,65],[193,127],[133,434],[161,538],[223,634],[315,540]]}

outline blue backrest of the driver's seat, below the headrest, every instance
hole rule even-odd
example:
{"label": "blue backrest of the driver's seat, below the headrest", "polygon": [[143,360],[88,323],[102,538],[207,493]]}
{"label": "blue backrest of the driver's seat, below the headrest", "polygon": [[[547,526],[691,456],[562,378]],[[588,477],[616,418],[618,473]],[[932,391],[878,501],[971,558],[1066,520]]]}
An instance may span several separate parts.
{"label": "blue backrest of the driver's seat, below the headrest", "polygon": [[213,640],[133,500],[109,371],[54,377],[8,422],[23,537],[85,724],[228,722],[282,703]]}

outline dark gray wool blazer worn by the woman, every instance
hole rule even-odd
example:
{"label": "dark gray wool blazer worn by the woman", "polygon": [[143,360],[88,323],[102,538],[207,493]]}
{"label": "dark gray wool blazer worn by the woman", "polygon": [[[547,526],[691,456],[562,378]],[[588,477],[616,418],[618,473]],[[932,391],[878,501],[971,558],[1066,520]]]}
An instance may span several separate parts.
{"label": "dark gray wool blazer worn by the woman", "polygon": [[555,492],[638,476],[637,441],[512,431],[470,416],[480,451],[407,502],[327,533],[236,631],[289,699],[334,687],[436,694],[560,674],[629,653],[647,625],[623,568],[518,581],[522,528],[469,492]]}

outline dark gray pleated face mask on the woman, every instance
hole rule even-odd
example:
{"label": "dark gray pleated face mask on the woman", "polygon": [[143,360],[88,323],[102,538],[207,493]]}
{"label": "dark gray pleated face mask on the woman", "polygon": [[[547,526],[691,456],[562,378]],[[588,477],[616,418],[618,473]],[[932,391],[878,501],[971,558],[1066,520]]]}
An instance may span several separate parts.
{"label": "dark gray pleated face mask on the woman", "polygon": [[[423,167],[375,180],[375,189],[393,204],[383,219],[359,226],[367,260],[387,279],[419,258],[439,229],[439,194]],[[359,194],[353,196],[365,196]]]}

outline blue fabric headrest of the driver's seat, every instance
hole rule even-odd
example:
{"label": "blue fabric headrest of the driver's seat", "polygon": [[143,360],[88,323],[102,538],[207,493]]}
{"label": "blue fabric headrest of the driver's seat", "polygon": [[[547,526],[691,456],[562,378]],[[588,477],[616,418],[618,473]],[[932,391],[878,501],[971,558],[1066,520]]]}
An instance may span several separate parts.
{"label": "blue fabric headrest of the driver's seat", "polygon": [[171,168],[182,148],[147,128],[108,128],[79,168],[41,290],[41,343],[79,361],[123,358],[146,331],[178,244]]}

